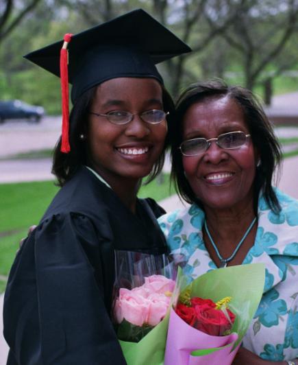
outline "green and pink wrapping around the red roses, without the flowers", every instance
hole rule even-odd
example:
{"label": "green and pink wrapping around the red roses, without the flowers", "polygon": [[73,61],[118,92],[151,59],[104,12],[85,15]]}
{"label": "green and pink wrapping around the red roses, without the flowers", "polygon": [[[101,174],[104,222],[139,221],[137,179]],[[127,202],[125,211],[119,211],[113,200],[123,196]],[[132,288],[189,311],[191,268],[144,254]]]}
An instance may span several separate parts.
{"label": "green and pink wrapping around the red roses, without the flowers", "polygon": [[[231,266],[211,270],[188,284],[179,270],[173,307],[169,318],[164,365],[232,364],[240,342],[258,309],[264,288],[265,270],[262,263]],[[179,298],[205,298],[214,303],[229,296],[229,309],[236,316],[229,332],[216,335],[188,325],[176,313]],[[207,331],[207,332],[208,332]]]}

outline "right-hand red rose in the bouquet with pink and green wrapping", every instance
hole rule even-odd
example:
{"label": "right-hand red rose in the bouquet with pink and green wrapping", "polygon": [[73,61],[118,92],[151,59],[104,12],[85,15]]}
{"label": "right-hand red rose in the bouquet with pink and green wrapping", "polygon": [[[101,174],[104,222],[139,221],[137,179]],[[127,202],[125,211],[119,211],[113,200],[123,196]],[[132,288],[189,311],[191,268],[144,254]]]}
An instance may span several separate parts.
{"label": "right-hand red rose in the bouquet with pink and green wrapping", "polygon": [[225,331],[231,329],[231,322],[233,323],[235,320],[234,314],[229,309],[226,310],[230,321],[221,309],[215,309],[214,306],[196,305],[194,309],[197,319],[194,327],[208,335],[223,335]]}

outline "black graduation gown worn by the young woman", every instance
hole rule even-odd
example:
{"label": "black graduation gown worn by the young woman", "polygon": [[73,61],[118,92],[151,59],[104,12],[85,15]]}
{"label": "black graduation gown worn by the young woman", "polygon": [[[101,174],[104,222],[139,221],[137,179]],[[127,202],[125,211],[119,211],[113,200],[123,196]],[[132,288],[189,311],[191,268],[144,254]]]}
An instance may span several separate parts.
{"label": "black graduation gown worn by the young woman", "polygon": [[110,309],[114,249],[164,253],[164,213],[138,200],[137,214],[86,167],[55,196],[16,256],[3,322],[9,365],[126,364]]}

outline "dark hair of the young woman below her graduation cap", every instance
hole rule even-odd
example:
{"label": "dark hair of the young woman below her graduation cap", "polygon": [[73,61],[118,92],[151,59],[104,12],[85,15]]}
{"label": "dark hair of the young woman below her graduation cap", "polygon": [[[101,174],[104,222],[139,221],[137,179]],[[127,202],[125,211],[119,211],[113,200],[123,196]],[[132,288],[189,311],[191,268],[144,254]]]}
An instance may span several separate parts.
{"label": "dark hair of the young woman below her graduation cap", "polygon": [[[171,119],[175,113],[175,106],[171,95],[162,86],[162,102],[164,104],[164,110],[169,112],[167,117],[168,128],[171,130]],[[61,137],[58,143],[55,145],[53,151],[53,167],[52,173],[58,180],[58,185],[63,186],[68,180],[70,180],[77,169],[82,165],[88,165],[88,154],[86,148],[86,141],[79,138],[80,134],[86,134],[88,128],[88,110],[95,96],[97,86],[86,91],[73,106],[71,115],[69,117],[70,130],[69,130],[69,143],[71,145],[71,151],[68,154],[64,154],[60,151],[61,148]],[[162,170],[164,165],[165,150],[169,146],[169,137],[166,137],[164,143],[164,149],[162,154],[158,158],[158,161],[153,165],[153,169],[147,178],[149,183],[155,178]]]}

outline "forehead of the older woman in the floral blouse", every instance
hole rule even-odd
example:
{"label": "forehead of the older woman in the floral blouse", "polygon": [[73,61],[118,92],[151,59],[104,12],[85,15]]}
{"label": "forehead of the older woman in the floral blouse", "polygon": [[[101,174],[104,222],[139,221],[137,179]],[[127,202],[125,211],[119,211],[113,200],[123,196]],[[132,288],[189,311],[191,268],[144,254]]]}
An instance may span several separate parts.
{"label": "forehead of the older woman in the floral blouse", "polygon": [[224,95],[209,97],[192,104],[184,115],[183,129],[184,135],[194,131],[211,133],[213,136],[237,129],[247,130],[247,124],[238,102]]}

